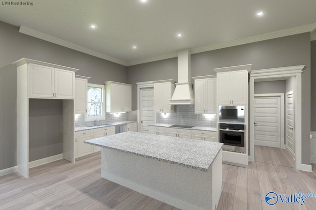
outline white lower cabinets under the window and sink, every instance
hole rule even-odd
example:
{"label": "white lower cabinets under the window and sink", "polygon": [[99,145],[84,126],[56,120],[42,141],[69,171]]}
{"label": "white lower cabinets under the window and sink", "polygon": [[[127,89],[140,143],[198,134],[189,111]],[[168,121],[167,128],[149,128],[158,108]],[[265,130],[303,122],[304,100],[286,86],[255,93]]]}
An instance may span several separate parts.
{"label": "white lower cabinets under the window and sink", "polygon": [[100,151],[100,147],[85,144],[84,141],[115,134],[115,126],[75,132],[75,158]]}

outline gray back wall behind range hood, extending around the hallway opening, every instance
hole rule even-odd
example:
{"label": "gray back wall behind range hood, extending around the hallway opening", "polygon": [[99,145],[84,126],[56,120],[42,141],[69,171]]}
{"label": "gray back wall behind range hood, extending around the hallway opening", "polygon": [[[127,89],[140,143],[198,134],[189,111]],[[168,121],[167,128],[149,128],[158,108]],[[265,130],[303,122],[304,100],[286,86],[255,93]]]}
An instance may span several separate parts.
{"label": "gray back wall behind range hood, extending around the hallway opening", "polygon": [[[214,68],[252,64],[252,69],[306,65],[302,76],[302,163],[310,164],[311,125],[311,36],[302,33],[235,47],[193,54],[192,76],[215,74]],[[160,60],[127,67],[128,83],[159,79],[177,79],[177,59]],[[133,94],[133,110],[137,109],[137,91]],[[314,95],[313,95],[314,97]]]}

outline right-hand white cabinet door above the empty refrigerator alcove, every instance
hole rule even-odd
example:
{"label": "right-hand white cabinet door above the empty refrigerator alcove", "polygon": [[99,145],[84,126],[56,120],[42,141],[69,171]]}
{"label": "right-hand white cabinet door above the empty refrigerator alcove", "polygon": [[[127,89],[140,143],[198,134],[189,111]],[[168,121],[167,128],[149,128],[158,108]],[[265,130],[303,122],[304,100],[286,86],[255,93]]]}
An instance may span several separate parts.
{"label": "right-hand white cabinet door above the empty refrigerator alcove", "polygon": [[55,97],[75,99],[75,72],[55,68]]}

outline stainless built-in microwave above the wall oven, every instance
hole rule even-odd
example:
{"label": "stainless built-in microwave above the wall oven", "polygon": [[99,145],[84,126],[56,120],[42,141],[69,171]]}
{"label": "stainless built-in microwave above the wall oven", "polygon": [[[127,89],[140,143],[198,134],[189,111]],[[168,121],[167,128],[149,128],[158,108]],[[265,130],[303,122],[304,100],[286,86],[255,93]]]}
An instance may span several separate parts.
{"label": "stainless built-in microwave above the wall oven", "polygon": [[245,122],[245,106],[219,106],[220,122]]}

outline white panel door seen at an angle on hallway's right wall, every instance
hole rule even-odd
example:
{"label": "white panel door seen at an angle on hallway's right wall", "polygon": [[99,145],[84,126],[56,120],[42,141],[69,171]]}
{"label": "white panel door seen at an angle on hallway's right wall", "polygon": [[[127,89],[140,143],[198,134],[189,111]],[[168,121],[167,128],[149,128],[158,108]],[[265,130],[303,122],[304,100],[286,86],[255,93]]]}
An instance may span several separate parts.
{"label": "white panel door seen at an angle on hallway's right wall", "polygon": [[294,91],[286,93],[285,106],[285,149],[295,158]]}

